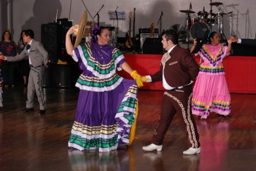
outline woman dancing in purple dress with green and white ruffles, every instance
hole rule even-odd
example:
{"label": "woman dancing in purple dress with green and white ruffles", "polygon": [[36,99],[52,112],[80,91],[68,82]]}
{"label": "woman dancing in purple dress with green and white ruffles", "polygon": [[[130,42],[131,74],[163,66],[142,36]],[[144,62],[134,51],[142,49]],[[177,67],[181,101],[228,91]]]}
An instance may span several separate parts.
{"label": "woman dancing in purple dress with green and white ruffles", "polygon": [[66,48],[83,73],[76,83],[80,92],[68,146],[80,151],[112,151],[131,143],[129,134],[138,101],[136,81],[120,77],[116,70],[124,69],[134,79],[138,74],[118,48],[108,45],[108,28],[93,27],[92,42],[73,47],[70,34],[75,30],[72,26],[67,31]]}

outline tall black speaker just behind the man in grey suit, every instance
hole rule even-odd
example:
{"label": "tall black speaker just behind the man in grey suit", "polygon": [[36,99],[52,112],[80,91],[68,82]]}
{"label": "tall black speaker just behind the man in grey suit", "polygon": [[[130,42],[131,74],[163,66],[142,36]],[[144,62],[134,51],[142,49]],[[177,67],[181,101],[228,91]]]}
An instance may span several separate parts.
{"label": "tall black speaker just behind the man in grey suit", "polygon": [[60,40],[60,24],[42,24],[41,41],[49,55],[49,63],[58,63],[61,54]]}

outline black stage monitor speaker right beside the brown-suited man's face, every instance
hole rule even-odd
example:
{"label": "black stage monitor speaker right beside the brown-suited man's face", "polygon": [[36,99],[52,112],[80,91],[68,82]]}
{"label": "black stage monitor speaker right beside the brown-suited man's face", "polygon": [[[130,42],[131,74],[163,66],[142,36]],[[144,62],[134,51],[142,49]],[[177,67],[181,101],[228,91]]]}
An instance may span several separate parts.
{"label": "black stage monitor speaker right beside the brown-suited man's face", "polygon": [[143,43],[143,54],[163,54],[161,38],[146,38]]}

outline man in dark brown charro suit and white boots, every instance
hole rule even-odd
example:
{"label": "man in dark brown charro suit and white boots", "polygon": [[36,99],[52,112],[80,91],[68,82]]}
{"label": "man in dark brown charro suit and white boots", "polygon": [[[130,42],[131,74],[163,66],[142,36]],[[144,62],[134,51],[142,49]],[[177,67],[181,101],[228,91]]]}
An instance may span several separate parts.
{"label": "man in dark brown charro suit and white boots", "polygon": [[183,154],[200,153],[199,135],[191,114],[192,82],[198,75],[199,67],[188,50],[179,46],[179,35],[174,30],[162,34],[163,48],[168,51],[161,59],[161,69],[154,75],[147,75],[147,82],[163,81],[165,89],[159,123],[152,144],[143,147],[145,151],[161,151],[163,139],[173,116],[177,113],[184,119],[190,148]]}

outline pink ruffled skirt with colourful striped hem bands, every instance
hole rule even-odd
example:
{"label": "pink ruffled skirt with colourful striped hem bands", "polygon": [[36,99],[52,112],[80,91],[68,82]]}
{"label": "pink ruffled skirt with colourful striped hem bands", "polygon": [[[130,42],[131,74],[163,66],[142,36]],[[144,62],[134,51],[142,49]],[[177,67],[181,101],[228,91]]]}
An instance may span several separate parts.
{"label": "pink ruffled skirt with colourful striped hem bands", "polygon": [[207,118],[210,112],[228,115],[230,108],[225,75],[199,74],[193,88],[192,113]]}

